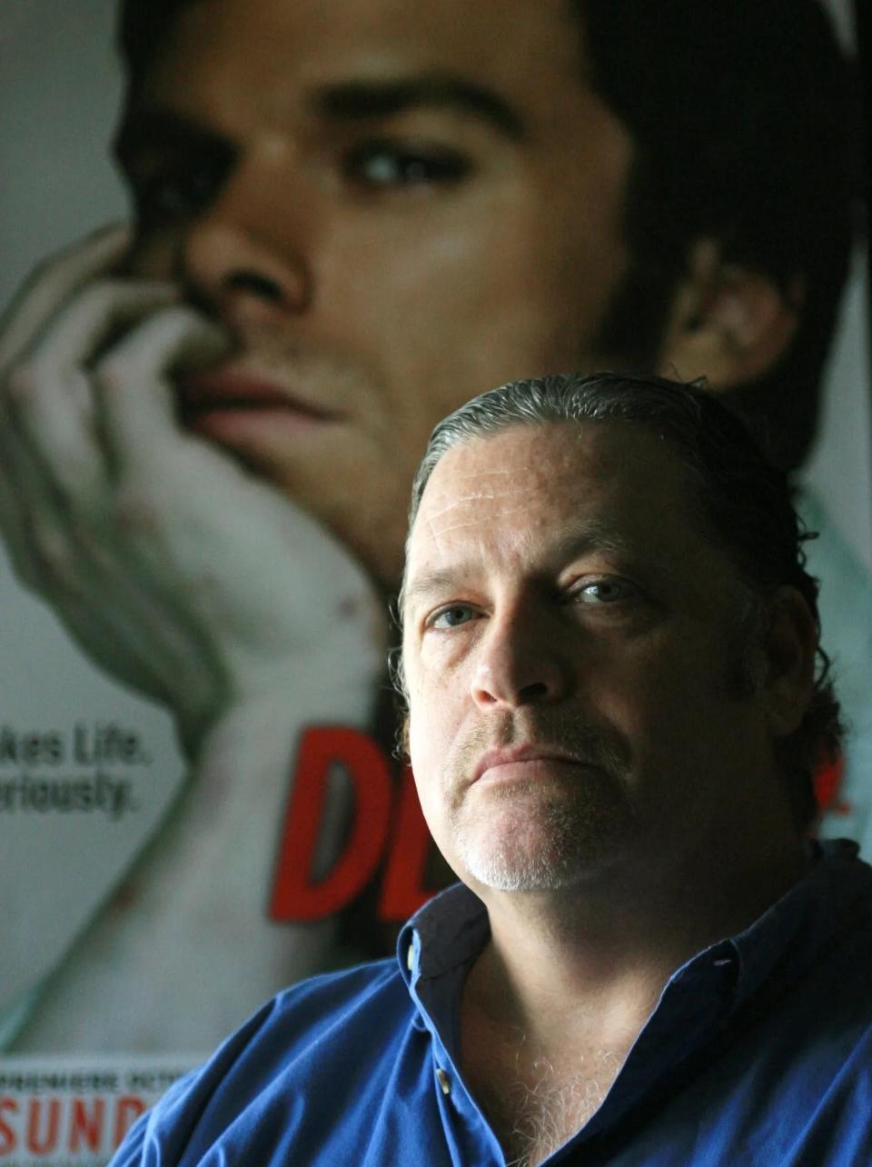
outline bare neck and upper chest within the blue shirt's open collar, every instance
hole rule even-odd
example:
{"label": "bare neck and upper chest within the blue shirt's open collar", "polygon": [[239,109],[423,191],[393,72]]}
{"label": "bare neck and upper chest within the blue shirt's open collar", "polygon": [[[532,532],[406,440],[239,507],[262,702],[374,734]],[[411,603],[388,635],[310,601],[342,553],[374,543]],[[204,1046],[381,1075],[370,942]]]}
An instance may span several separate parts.
{"label": "bare neck and upper chest within the blue shirt's open collar", "polygon": [[[521,1154],[520,1127],[560,1119],[564,1141],[583,1126],[671,973],[747,928],[807,868],[799,840],[734,871],[726,854],[708,859],[705,869],[611,873],[557,893],[484,892],[491,939],[466,980],[460,1053],[506,1151]],[[563,1099],[555,1113],[547,1097]],[[550,1153],[534,1144],[526,1161]]]}

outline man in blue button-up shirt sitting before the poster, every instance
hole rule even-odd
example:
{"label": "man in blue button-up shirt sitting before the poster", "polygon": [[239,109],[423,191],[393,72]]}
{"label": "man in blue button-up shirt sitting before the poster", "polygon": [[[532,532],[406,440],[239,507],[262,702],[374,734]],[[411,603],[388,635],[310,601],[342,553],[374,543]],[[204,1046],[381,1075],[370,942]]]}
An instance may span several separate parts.
{"label": "man in blue button-up shirt sitting before the poster", "polygon": [[463,883],[399,960],[266,1006],[118,1167],[869,1162],[872,873],[806,839],[839,727],[803,538],[692,385],[555,376],[442,422],[402,676]]}

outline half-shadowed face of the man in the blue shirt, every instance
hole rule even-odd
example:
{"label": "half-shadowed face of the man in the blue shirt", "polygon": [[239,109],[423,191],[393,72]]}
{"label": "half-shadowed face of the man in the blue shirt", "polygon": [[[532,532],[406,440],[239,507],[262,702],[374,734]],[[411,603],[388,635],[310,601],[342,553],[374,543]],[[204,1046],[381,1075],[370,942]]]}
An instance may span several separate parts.
{"label": "half-shadowed face of the man in the blue shirt", "polygon": [[448,453],[409,541],[403,662],[421,804],[460,878],[654,878],[741,838],[776,781],[747,599],[646,431]]}

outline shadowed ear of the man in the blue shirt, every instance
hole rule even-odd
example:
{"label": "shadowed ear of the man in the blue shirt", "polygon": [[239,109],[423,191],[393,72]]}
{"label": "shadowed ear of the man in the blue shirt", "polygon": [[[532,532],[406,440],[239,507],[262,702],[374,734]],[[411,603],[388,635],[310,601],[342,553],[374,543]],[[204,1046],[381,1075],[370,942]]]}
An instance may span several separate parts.
{"label": "shadowed ear of the man in the blue shirt", "polygon": [[773,738],[799,728],[815,687],[817,627],[795,587],[781,587],[771,600],[764,635],[762,697]]}

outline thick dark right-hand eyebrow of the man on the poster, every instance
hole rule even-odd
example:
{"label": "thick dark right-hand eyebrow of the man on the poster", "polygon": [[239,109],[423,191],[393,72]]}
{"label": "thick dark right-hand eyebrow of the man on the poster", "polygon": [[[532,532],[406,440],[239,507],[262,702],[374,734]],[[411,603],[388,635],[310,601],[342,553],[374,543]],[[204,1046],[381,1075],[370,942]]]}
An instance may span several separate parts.
{"label": "thick dark right-hand eyebrow of the man on the poster", "polygon": [[512,140],[523,138],[527,130],[519,111],[504,97],[451,72],[326,85],[312,104],[317,113],[338,121],[366,121],[412,110],[443,109],[485,121]]}

